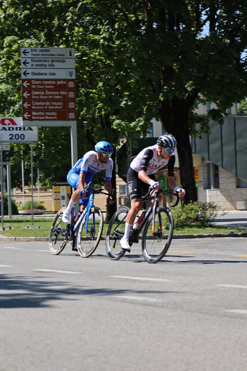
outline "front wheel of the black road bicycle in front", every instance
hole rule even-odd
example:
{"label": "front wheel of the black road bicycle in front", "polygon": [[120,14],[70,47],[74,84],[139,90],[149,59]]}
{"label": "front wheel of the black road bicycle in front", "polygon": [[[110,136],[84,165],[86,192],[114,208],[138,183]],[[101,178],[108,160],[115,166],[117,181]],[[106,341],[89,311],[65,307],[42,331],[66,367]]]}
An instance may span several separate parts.
{"label": "front wheel of the black road bicycle in front", "polygon": [[157,207],[154,226],[153,215],[148,218],[143,231],[141,248],[148,263],[159,262],[169,249],[173,237],[173,214],[168,207]]}

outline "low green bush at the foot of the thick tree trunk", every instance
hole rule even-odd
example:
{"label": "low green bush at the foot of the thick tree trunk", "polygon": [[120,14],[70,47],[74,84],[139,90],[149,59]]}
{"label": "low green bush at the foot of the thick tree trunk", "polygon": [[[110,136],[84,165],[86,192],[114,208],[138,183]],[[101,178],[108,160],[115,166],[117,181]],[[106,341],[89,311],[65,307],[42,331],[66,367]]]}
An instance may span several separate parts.
{"label": "low green bush at the foot of the thick tree trunk", "polygon": [[178,204],[172,209],[175,228],[188,226],[209,227],[217,216],[220,208],[213,202],[190,202],[187,205]]}

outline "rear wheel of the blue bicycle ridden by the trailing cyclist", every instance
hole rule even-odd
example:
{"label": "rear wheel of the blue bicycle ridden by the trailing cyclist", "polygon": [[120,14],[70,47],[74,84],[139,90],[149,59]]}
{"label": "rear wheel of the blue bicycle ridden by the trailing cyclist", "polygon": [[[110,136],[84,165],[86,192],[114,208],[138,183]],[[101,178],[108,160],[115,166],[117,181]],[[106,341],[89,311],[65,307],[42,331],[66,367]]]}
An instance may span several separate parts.
{"label": "rear wheel of the blue bicycle ridden by the trailing cyclist", "polygon": [[[51,223],[49,249],[53,255],[59,255],[67,244],[67,242],[64,242],[64,233],[66,232],[67,224],[62,221],[64,209],[65,207],[57,212],[53,222]],[[61,230],[61,233],[59,233],[59,230]]]}

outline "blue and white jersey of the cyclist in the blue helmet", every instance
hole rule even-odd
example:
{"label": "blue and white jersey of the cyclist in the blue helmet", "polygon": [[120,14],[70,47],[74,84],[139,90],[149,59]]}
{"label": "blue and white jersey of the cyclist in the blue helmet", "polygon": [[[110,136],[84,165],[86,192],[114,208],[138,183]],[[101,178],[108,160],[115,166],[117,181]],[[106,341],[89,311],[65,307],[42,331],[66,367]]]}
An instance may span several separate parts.
{"label": "blue and white jersey of the cyclist in the blue helmet", "polygon": [[111,173],[113,169],[113,160],[109,158],[106,164],[98,164],[96,160],[97,152],[89,151],[80,158],[73,168],[70,170],[76,174],[84,174],[93,177],[93,175],[99,173],[102,170],[106,170],[106,182],[111,181]]}

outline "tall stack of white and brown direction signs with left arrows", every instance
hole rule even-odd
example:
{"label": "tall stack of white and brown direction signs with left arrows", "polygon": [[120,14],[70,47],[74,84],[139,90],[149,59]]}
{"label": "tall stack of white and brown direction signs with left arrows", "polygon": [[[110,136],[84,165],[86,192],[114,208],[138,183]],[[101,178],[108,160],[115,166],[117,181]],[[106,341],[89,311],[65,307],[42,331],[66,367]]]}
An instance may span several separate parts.
{"label": "tall stack of white and brown direction signs with left arrows", "polygon": [[76,120],[73,48],[21,47],[23,126]]}

